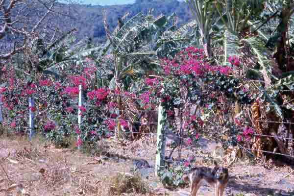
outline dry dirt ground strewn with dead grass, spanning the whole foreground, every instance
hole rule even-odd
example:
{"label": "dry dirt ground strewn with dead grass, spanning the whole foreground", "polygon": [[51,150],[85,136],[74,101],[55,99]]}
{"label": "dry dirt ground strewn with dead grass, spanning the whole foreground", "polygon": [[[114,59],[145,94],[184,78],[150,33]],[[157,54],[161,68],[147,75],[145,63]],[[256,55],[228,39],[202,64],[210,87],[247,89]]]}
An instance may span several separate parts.
{"label": "dry dirt ground strewn with dead grass, spanning the whole foreground", "polygon": [[[201,153],[213,153],[215,143],[201,142]],[[20,138],[1,138],[0,196],[108,196],[110,177],[117,172],[131,173],[134,160],[146,160],[151,167],[146,180],[152,191],[147,195],[188,196],[188,187],[168,190],[154,176],[156,150],[150,140],[133,143],[108,140],[101,148],[107,153],[94,157],[70,148],[57,149],[39,140],[29,143]],[[183,157],[193,153],[195,149],[183,149]],[[204,163],[202,156],[195,156],[199,165]],[[254,161],[236,160],[229,164],[229,172],[226,196],[294,196],[294,172],[290,166],[265,169]],[[213,189],[203,185],[198,195],[213,196]]]}

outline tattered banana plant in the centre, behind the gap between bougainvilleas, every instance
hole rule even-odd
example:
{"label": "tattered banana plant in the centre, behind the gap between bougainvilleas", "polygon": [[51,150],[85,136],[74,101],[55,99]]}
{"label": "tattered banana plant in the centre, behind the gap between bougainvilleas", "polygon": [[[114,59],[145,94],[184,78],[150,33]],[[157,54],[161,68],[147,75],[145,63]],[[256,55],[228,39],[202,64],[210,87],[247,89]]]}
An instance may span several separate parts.
{"label": "tattered banana plant in the centre, behind the gap between bougainvilleas", "polygon": [[[114,77],[109,83],[110,89],[126,90],[138,76],[153,68],[157,68],[160,56],[182,48],[190,39],[175,36],[175,14],[170,17],[161,15],[157,18],[150,13],[138,13],[110,33],[106,23],[103,24],[109,41],[109,50],[114,55]],[[130,80],[127,78],[130,78]],[[118,100],[119,110],[122,110],[122,100]],[[121,126],[118,124],[118,136]]]}

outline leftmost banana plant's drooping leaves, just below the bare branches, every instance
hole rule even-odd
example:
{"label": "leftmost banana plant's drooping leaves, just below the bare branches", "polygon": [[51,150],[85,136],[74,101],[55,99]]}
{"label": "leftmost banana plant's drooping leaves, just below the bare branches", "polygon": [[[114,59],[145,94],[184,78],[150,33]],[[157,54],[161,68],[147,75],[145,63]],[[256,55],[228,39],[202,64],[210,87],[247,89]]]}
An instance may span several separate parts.
{"label": "leftmost banana plant's drooping leaves, just below the bare branches", "polygon": [[[50,74],[57,78],[62,75],[60,67],[66,67],[88,55],[85,51],[85,41],[75,42],[72,33],[75,29],[65,33],[53,43],[45,43],[41,38],[31,41],[30,50],[15,56],[15,69],[25,73],[29,78],[37,75]],[[84,50],[81,52],[81,50]]]}

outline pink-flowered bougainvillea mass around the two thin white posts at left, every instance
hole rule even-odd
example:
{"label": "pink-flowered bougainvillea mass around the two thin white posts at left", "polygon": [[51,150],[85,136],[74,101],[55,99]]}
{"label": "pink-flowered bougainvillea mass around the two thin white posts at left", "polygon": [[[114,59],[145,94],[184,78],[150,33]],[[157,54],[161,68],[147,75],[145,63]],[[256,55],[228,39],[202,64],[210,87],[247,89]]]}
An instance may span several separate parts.
{"label": "pink-flowered bougainvillea mass around the two thin white posts at left", "polygon": [[[87,63],[93,62],[89,60]],[[6,87],[0,89],[3,95],[4,123],[11,131],[26,134],[28,111],[32,111],[35,113],[35,130],[43,133],[56,145],[65,147],[73,141],[77,146],[95,144],[101,137],[112,136],[117,123],[114,113],[117,105],[112,102],[112,110],[108,110],[110,91],[107,88],[91,89],[95,78],[95,65],[73,66],[73,70],[62,82],[44,76],[35,78],[34,81],[26,81],[16,77],[13,68],[6,70],[2,76],[8,78],[8,82]],[[79,85],[82,85],[83,91],[88,92],[84,104],[80,107]],[[28,107],[30,97],[35,100],[34,107]],[[78,109],[83,121],[81,126],[76,128]],[[106,123],[108,118],[114,119],[109,121],[111,124]],[[123,126],[127,127],[127,123],[123,123]]]}

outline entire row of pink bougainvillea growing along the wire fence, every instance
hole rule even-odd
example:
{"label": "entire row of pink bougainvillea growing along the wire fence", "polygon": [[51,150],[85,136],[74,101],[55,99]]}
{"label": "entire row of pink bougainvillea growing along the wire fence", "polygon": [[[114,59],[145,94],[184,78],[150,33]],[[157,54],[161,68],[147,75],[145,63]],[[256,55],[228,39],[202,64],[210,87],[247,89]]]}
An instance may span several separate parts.
{"label": "entire row of pink bougainvillea growing along the wire fence", "polygon": [[[107,62],[110,61],[109,58]],[[122,96],[135,100],[133,102],[144,110],[154,110],[161,104],[164,127],[187,136],[185,143],[191,145],[199,139],[212,112],[227,112],[218,106],[219,103],[226,104],[230,99],[251,102],[242,81],[232,75],[241,67],[236,56],[229,58],[230,66],[217,66],[205,59],[202,49],[189,47],[172,59],[161,59],[162,76],[142,78],[134,92],[110,91],[105,87],[94,89],[96,67],[91,59],[86,62],[87,66],[73,65],[71,74],[63,81],[42,76],[28,82],[16,78],[13,70],[5,72],[4,76],[9,79],[0,92],[7,109],[7,125],[25,133],[30,110],[36,113],[37,131],[51,141],[62,144],[66,138],[74,138],[77,146],[94,144],[103,137],[114,135],[118,123],[125,132],[132,128],[127,117],[118,115],[119,105],[115,100]],[[79,85],[84,91],[82,106],[78,106]],[[35,107],[28,107],[29,97],[35,98]],[[202,110],[192,111],[194,104],[202,106]],[[77,128],[78,111],[82,123]],[[180,119],[179,130],[174,126],[175,114]]]}

